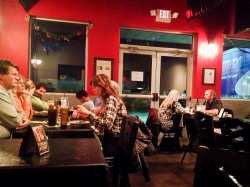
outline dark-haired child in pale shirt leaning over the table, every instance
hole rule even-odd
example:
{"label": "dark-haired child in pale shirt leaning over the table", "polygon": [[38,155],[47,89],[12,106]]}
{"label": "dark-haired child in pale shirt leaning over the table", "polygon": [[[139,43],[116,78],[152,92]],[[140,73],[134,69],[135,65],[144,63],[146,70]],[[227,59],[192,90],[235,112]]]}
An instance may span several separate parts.
{"label": "dark-haired child in pale shirt leaning over the table", "polygon": [[[85,90],[81,90],[76,93],[76,98],[79,99],[82,102],[82,106],[84,106],[87,110],[95,113],[96,108],[94,105],[94,102],[89,98],[88,92]],[[78,115],[77,110],[73,111],[73,114],[71,116],[72,119],[80,118],[80,119],[86,119],[87,116],[84,115]]]}

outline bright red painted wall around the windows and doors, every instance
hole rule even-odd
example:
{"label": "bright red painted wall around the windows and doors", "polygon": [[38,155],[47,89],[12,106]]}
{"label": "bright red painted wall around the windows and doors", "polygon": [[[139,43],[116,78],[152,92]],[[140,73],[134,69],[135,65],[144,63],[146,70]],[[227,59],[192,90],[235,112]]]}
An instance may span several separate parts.
{"label": "bright red painted wall around the windows and doors", "polygon": [[[212,88],[220,97],[223,37],[227,11],[216,11],[202,18],[187,21],[186,0],[39,0],[26,13],[18,0],[0,0],[0,58],[10,59],[20,66],[20,73],[28,77],[29,23],[27,15],[44,18],[89,22],[94,26],[88,36],[87,82],[93,76],[94,57],[114,59],[114,80],[118,79],[119,31],[121,27],[195,34],[193,98],[203,98],[204,90]],[[157,23],[150,16],[152,9],[168,9],[179,12],[171,23]],[[220,14],[220,16],[218,16]],[[213,59],[199,53],[203,42],[212,40],[219,46]],[[202,84],[202,68],[216,68],[215,85]],[[190,80],[191,81],[191,80]],[[91,89],[88,87],[88,91]]]}

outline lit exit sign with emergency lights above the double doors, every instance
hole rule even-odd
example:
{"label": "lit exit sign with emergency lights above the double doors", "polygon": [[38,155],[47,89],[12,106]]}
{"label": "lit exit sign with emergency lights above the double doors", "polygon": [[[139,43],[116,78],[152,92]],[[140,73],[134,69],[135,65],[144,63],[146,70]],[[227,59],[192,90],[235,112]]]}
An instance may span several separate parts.
{"label": "lit exit sign with emergency lights above the double doors", "polygon": [[171,10],[150,10],[150,16],[155,16],[157,22],[170,23],[171,19],[176,19],[178,15],[178,12],[174,12],[173,14],[171,14]]}

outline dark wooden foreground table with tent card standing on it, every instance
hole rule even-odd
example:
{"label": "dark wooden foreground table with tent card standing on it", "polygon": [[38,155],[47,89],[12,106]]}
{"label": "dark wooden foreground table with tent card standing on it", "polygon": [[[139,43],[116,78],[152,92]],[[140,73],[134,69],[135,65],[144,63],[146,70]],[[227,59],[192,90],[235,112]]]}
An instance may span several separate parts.
{"label": "dark wooden foreground table with tent card standing on it", "polygon": [[107,165],[95,138],[49,139],[44,156],[19,157],[21,139],[0,140],[0,181],[5,186],[108,186]]}

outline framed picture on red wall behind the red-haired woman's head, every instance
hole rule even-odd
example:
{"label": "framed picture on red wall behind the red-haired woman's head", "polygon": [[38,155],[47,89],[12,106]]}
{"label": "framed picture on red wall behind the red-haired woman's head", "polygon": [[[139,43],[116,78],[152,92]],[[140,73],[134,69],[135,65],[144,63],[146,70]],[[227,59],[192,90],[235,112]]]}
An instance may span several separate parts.
{"label": "framed picture on red wall behind the red-haired woman's head", "polygon": [[95,60],[95,72],[97,74],[106,74],[110,79],[113,79],[113,63],[112,58],[94,58]]}

